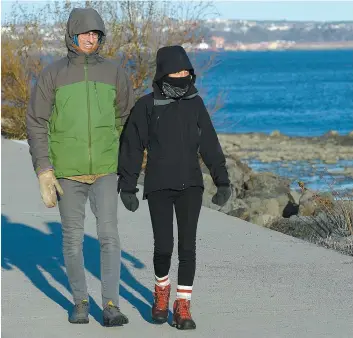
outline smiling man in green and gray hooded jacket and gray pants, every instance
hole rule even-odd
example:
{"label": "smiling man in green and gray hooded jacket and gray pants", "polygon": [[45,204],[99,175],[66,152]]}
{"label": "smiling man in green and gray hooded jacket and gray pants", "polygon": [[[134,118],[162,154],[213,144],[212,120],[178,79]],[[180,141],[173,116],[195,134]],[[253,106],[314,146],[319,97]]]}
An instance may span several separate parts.
{"label": "smiling man in green and gray hooded jacket and gray pants", "polygon": [[45,205],[56,206],[59,196],[63,254],[75,303],[69,321],[89,321],[82,252],[89,198],[100,243],[103,323],[114,326],[128,323],[118,303],[117,161],[134,95],[123,69],[99,55],[105,36],[104,22],[94,9],[71,12],[67,56],[40,74],[28,107],[27,132]]}

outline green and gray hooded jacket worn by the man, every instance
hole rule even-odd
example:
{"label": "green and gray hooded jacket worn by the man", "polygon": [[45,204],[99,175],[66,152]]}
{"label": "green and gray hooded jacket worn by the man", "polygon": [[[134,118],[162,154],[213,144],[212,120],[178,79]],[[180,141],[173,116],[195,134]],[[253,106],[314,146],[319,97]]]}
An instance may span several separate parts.
{"label": "green and gray hooded jacket worn by the man", "polygon": [[[76,34],[99,30],[95,53],[73,43]],[[68,54],[46,67],[27,111],[28,143],[37,173],[54,168],[56,177],[117,172],[119,136],[134,104],[121,66],[99,55],[105,27],[92,8],[74,9],[65,35]]]}

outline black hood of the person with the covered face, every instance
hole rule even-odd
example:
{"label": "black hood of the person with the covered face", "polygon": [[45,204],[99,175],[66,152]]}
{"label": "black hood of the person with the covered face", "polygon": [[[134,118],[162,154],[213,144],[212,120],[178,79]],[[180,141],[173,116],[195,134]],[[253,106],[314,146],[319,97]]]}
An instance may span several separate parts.
{"label": "black hood of the person with the covered face", "polygon": [[160,48],[157,52],[156,64],[157,68],[153,80],[154,82],[160,81],[165,75],[177,73],[183,69],[190,71],[194,77],[194,68],[185,49],[181,46]]}

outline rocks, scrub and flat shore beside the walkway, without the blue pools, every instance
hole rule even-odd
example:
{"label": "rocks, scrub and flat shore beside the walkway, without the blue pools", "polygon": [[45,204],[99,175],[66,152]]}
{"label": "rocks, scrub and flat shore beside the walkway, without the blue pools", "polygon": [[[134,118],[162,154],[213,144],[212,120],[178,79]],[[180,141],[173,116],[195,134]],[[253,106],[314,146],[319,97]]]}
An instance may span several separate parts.
{"label": "rocks, scrub and flat shore beside the walkway, without the blue pools", "polygon": [[[334,191],[318,193],[299,180],[294,189],[287,177],[256,172],[246,163],[253,159],[283,165],[293,161],[350,161],[353,160],[353,133],[340,136],[331,132],[321,137],[220,134],[219,139],[226,156],[232,197],[223,207],[212,203],[216,187],[201,161],[204,206],[353,255],[353,195],[348,201],[337,200]],[[353,183],[352,168],[346,168],[343,173]],[[143,184],[143,173],[139,183]]]}

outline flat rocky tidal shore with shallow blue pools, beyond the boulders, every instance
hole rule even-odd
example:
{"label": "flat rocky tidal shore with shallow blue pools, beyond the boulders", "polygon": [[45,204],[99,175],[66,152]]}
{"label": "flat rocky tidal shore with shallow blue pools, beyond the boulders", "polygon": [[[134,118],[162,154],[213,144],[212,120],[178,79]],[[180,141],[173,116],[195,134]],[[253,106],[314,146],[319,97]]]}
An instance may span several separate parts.
{"label": "flat rocky tidal shore with shallow blue pools, beyond the boulders", "polygon": [[353,196],[353,132],[331,131],[318,137],[289,137],[277,131],[220,134],[226,156],[234,156],[257,172],[273,172],[303,180],[311,189]]}

